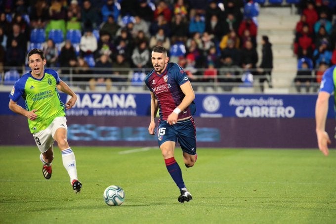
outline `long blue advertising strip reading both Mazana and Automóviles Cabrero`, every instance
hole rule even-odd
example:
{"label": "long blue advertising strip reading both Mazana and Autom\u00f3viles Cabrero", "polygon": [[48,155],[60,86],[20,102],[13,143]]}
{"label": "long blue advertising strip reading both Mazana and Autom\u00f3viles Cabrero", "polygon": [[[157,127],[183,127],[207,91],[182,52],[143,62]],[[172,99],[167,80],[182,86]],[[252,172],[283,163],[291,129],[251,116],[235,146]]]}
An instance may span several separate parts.
{"label": "long blue advertising strip reading both Mazana and Autom\u00f3viles Cabrero", "polygon": [[[0,92],[0,115],[8,109],[8,92]],[[68,95],[61,93],[61,100]],[[313,118],[315,94],[196,94],[196,117]],[[21,99],[18,102],[24,105]],[[67,116],[149,116],[149,93],[78,93],[76,105]],[[330,97],[328,118],[335,117]]]}

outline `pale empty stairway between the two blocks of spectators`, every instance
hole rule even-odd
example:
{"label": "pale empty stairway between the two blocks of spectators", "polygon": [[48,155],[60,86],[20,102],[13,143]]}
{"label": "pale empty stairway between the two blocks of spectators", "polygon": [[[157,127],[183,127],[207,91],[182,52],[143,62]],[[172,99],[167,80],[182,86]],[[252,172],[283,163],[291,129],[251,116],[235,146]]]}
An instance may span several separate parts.
{"label": "pale empty stairway between the two blocks of spectators", "polygon": [[[288,93],[294,91],[293,79],[297,67],[297,59],[293,54],[294,40],[293,21],[299,15],[292,14],[290,7],[262,7],[258,16],[258,55],[261,55],[260,41],[263,35],[269,37],[273,49],[272,79],[274,88],[265,88],[265,92]],[[260,60],[260,57],[259,57]]]}

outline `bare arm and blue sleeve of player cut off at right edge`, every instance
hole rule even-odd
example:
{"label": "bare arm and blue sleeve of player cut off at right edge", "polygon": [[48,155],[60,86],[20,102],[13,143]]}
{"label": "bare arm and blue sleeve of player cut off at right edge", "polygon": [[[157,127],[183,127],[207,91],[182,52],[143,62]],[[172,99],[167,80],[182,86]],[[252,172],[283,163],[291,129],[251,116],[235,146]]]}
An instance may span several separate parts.
{"label": "bare arm and blue sleeve of player cut off at right edge", "polygon": [[328,133],[326,132],[326,121],[329,109],[329,97],[334,92],[336,103],[336,66],[327,69],[322,77],[320,91],[316,100],[315,120],[316,120],[316,135],[319,149],[325,156],[329,155],[328,144],[331,144]]}

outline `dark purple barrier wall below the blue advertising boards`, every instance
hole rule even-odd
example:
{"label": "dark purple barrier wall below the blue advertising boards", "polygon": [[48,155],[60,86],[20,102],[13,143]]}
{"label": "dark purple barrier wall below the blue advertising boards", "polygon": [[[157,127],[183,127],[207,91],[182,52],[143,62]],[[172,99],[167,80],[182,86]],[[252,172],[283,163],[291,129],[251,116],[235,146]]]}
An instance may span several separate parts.
{"label": "dark purple barrier wall below the blue advertising boards", "polygon": [[[68,116],[73,146],[157,146],[148,134],[150,117]],[[317,148],[313,118],[201,118],[195,117],[198,147]],[[23,116],[0,116],[0,145],[34,145]],[[335,147],[335,120],[327,131]]]}

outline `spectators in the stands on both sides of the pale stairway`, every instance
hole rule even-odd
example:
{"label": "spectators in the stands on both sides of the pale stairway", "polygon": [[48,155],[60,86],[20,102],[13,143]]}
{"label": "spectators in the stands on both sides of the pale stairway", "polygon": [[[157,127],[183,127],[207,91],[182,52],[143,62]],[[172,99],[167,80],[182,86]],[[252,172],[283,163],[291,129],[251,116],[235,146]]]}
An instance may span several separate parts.
{"label": "spectators in the stands on both sides of the pale stairway", "polygon": [[[25,66],[30,49],[41,48],[47,66],[57,68],[62,75],[74,74],[73,81],[83,83],[80,85],[83,88],[89,84],[89,89],[94,90],[97,83],[105,83],[109,90],[114,82],[142,83],[151,67],[151,48],[163,45],[169,50],[170,62],[181,65],[192,82],[237,83],[242,82],[244,74],[257,76],[268,71],[270,75],[272,61],[263,61],[269,57],[258,55],[256,50],[260,6],[257,2],[3,0],[0,2],[0,72],[15,72],[10,68]],[[299,61],[310,58],[312,68],[320,68],[324,62],[328,66],[336,63],[332,41],[336,40],[336,27],[329,23],[326,26],[324,22],[332,22],[334,11],[320,4],[320,8],[328,8],[327,18],[321,17],[318,2],[324,1],[299,4],[302,17],[306,15],[312,21],[307,34],[303,31],[305,21],[299,21],[294,43]],[[314,19],[310,14],[307,16],[310,5],[315,7]],[[329,39],[318,35],[323,27],[328,28]],[[312,42],[307,44],[309,37]],[[270,49],[268,38],[263,40]],[[334,50],[334,60],[330,56],[326,61],[324,54],[314,52],[320,49],[321,40],[328,41],[329,51]],[[257,65],[259,57],[262,60]],[[16,72],[21,73],[20,69]],[[217,75],[221,78],[216,79]],[[232,86],[223,90],[230,91]]]}

